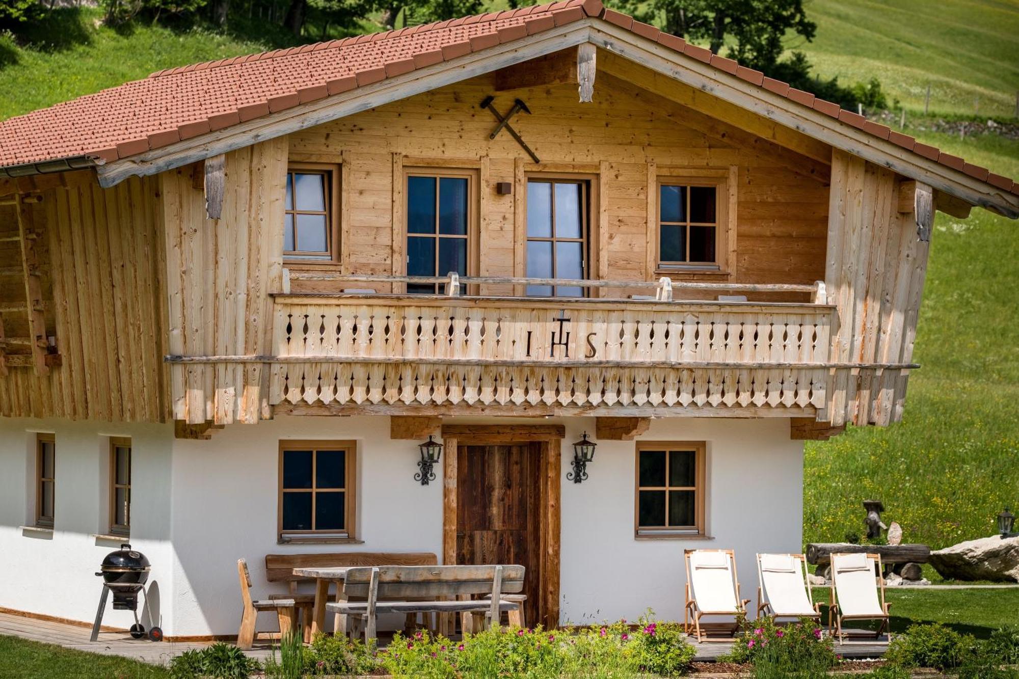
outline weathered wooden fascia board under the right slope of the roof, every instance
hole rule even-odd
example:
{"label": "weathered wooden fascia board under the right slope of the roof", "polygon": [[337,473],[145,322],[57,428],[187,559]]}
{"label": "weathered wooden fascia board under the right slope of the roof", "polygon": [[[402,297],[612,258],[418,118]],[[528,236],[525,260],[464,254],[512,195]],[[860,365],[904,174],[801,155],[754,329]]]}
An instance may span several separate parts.
{"label": "weathered wooden fascia board under the right slope of the roof", "polygon": [[797,129],[818,141],[840,148],[864,160],[888,167],[904,176],[923,181],[972,205],[994,210],[1013,219],[1019,218],[1019,196],[996,193],[990,185],[959,170],[908,151],[808,109],[746,81],[718,70],[706,63],[681,56],[646,38],[620,27],[599,21],[590,32],[591,42],[599,48],[643,64],[690,87],[745,108],[753,113]]}

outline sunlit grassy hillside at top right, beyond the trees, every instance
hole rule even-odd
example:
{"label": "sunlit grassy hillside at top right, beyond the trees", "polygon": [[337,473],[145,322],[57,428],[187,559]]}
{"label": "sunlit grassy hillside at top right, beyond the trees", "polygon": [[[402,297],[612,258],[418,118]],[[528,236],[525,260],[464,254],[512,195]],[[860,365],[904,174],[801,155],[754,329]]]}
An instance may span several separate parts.
{"label": "sunlit grassy hillside at top right, beyond the trees", "polygon": [[[881,86],[907,109],[1015,115],[1019,0],[810,0],[817,72]],[[796,45],[793,45],[794,47]],[[891,100],[890,100],[891,103]]]}

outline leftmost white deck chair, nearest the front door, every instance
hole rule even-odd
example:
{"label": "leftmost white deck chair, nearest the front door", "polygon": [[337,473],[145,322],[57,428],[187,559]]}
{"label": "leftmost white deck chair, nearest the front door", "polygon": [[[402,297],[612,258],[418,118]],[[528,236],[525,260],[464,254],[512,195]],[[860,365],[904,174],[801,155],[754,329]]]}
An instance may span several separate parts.
{"label": "leftmost white deck chair, nearest the front door", "polygon": [[[736,575],[736,555],[732,550],[685,550],[687,567],[687,603],[683,609],[683,627],[690,634],[691,624],[697,643],[714,641],[701,630],[703,616],[746,615],[749,598],[740,598],[740,581]],[[733,623],[730,636],[738,624]]]}

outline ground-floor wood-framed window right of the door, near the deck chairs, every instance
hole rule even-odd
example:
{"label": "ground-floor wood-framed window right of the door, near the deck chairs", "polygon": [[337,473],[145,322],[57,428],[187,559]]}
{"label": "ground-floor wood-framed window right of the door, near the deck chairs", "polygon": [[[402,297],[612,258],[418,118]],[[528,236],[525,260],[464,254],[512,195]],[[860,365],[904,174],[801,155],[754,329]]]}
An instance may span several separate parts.
{"label": "ground-floor wood-framed window right of the door, near the deck chairs", "polygon": [[638,537],[704,534],[704,451],[703,441],[638,442]]}

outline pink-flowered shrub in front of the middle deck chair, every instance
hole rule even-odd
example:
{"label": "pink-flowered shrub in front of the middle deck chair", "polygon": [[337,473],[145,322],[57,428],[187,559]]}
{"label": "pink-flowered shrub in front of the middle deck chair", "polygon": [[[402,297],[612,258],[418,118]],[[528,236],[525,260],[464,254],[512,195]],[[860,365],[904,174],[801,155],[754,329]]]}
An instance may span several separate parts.
{"label": "pink-flowered shrub in front of the middle deck chair", "polygon": [[810,618],[783,626],[775,625],[773,618],[747,621],[729,658],[755,668],[806,675],[823,674],[837,662],[832,640],[821,635],[820,626]]}

